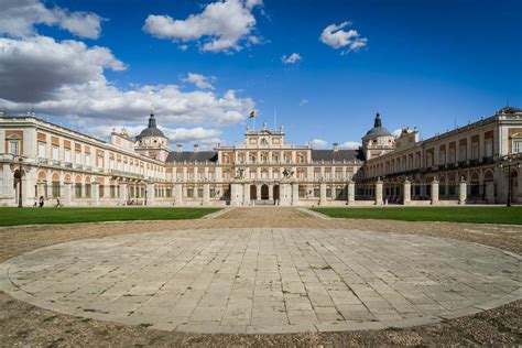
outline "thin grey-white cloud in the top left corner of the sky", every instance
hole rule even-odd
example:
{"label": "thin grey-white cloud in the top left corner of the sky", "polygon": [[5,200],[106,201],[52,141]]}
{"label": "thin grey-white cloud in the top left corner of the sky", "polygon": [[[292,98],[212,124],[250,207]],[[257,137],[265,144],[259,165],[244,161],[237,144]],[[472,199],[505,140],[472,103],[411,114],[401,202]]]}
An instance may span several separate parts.
{"label": "thin grey-white cloud in the top left corner of the sky", "polygon": [[47,9],[39,0],[2,0],[0,34],[13,37],[35,35],[37,24],[57,25],[77,36],[98,39],[102,19],[91,12],[69,12],[55,7]]}

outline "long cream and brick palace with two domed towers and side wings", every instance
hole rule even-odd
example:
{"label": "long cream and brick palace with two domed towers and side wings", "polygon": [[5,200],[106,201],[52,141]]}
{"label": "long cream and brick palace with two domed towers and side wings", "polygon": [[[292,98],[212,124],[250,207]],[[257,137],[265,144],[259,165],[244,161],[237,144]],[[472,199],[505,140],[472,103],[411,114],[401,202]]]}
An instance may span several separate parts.
{"label": "long cream and brick palace with two domed towers and side wings", "polygon": [[522,203],[522,110],[420,140],[382,124],[358,150],[294,145],[279,130],[244,132],[241,143],[168,149],[151,112],[135,138],[109,141],[29,113],[0,113],[0,205],[345,206]]}

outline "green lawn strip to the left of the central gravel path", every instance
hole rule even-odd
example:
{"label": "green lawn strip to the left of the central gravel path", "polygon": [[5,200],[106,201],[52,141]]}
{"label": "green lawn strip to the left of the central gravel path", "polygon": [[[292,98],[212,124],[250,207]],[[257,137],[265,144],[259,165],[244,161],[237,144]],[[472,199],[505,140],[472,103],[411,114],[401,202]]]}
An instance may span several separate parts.
{"label": "green lawn strip to the left of the central gravel path", "polygon": [[0,226],[197,219],[220,208],[0,208]]}

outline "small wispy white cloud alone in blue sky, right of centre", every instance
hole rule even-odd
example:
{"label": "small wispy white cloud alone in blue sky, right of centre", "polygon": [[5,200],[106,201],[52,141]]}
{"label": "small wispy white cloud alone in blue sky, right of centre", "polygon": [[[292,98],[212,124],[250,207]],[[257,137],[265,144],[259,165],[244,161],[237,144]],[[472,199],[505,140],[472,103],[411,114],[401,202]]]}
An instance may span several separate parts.
{"label": "small wispy white cloud alone in blue sky, right of centre", "polygon": [[341,54],[351,51],[358,51],[368,44],[368,39],[362,37],[356,30],[342,30],[351,25],[351,22],[345,21],[339,25],[330,24],[323,30],[319,36],[320,42],[335,50],[342,48]]}

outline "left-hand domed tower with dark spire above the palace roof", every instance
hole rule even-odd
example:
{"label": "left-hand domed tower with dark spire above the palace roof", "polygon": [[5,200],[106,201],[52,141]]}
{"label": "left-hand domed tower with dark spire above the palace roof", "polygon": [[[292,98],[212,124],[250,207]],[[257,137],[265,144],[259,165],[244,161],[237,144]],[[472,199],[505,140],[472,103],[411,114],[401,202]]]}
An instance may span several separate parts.
{"label": "left-hand domed tower with dark spire above the palace roof", "polygon": [[160,161],[166,161],[168,155],[168,139],[156,127],[154,110],[151,110],[149,126],[135,137],[135,151],[142,155]]}

